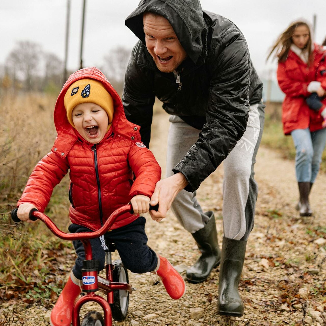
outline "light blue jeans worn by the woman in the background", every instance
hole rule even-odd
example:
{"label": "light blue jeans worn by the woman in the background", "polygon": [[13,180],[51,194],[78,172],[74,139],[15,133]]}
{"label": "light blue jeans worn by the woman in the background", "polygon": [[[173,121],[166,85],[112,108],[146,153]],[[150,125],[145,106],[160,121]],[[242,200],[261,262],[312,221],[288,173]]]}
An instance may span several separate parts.
{"label": "light blue jeans worn by the woman in the background", "polygon": [[295,129],[291,132],[294,141],[295,173],[298,182],[314,183],[326,143],[326,128],[310,132],[307,129]]}

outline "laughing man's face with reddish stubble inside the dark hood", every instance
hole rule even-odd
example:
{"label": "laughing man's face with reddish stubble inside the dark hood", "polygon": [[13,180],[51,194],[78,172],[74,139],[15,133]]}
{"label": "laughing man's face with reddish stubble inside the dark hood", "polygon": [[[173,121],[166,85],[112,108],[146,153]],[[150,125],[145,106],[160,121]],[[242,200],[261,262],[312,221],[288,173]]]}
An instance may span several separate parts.
{"label": "laughing man's face with reddish stubble inside the dark hood", "polygon": [[187,53],[167,19],[151,13],[143,17],[145,41],[156,67],[162,72],[172,72],[186,58]]}

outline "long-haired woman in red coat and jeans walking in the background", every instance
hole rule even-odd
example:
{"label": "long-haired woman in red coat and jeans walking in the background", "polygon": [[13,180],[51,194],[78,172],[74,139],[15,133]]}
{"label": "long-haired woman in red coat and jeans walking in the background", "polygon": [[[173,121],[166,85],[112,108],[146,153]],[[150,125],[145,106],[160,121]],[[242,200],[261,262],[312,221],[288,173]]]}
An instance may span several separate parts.
{"label": "long-haired woman in red coat and jeans walking in the background", "polygon": [[[300,216],[310,216],[309,193],[326,143],[326,74],[320,75],[325,69],[325,50],[313,43],[308,23],[297,21],[278,37],[268,58],[274,51],[278,59],[277,80],[286,94],[282,105],[283,130],[285,135],[292,136],[296,149],[300,193],[297,210]],[[320,98],[318,110],[311,109],[306,101],[313,93]]]}

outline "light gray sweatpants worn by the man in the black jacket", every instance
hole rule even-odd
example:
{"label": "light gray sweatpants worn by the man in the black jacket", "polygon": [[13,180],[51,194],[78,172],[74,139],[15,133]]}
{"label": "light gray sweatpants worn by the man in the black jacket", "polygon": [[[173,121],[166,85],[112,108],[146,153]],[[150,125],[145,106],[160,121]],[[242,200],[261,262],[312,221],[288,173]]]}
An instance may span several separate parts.
{"label": "light gray sweatpants worn by the man in the black jacket", "polygon": [[[223,226],[229,239],[247,240],[254,226],[258,188],[254,180],[254,165],[264,126],[264,105],[250,106],[249,119],[243,137],[224,160]],[[170,117],[167,152],[167,177],[198,140],[200,130],[186,124],[180,117]],[[185,230],[194,233],[202,229],[208,217],[196,199],[196,191],[182,190],[171,209]]]}

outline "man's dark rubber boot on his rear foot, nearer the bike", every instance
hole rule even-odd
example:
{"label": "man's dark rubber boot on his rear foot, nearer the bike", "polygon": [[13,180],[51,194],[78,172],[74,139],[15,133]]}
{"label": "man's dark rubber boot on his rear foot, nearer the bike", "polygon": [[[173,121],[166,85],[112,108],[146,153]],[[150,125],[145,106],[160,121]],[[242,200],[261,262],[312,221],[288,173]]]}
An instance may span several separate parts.
{"label": "man's dark rubber boot on his rear foot, nearer the bike", "polygon": [[215,217],[213,212],[207,212],[209,216],[206,225],[192,233],[201,256],[195,264],[186,270],[186,279],[191,283],[200,283],[207,279],[214,267],[217,267],[221,260],[221,250],[217,242],[217,232],[215,225]]}

